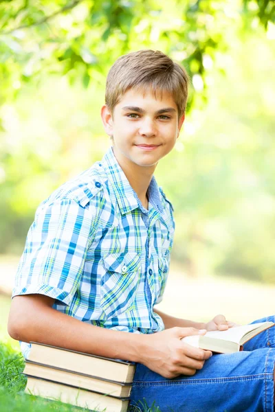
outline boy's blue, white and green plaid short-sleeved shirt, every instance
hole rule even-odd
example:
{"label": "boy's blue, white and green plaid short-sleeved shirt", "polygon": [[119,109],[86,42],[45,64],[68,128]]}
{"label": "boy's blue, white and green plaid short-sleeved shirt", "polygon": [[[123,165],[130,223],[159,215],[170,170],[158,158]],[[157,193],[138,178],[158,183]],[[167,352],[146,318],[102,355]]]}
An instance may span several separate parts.
{"label": "boy's blue, white and green plaid short-sleeved shirt", "polygon": [[[162,300],[175,225],[155,178],[144,209],[109,148],[36,211],[12,296],[40,293],[54,308],[103,328],[164,329]],[[30,345],[21,343],[28,356]]]}

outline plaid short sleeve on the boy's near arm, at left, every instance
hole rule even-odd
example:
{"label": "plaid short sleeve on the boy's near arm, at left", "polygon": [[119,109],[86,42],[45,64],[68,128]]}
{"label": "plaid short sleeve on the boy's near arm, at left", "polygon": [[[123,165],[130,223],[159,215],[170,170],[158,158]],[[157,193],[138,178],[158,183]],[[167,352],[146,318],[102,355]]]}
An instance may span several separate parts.
{"label": "plaid short sleeve on the boy's near arm, at left", "polygon": [[91,208],[68,198],[36,212],[12,297],[39,293],[69,305],[80,284],[93,224]]}

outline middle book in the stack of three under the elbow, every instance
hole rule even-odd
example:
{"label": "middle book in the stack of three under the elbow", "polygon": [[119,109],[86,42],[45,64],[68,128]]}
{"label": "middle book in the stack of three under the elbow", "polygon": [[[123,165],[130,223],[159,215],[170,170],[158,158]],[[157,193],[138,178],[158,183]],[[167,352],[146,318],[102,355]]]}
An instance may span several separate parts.
{"label": "middle book in the stack of three under the elbow", "polygon": [[26,361],[23,371],[28,377],[43,378],[65,385],[71,385],[80,389],[88,389],[106,395],[126,398],[130,395],[131,383],[113,382],[112,380],[98,379],[91,375],[85,375],[69,371],[67,369],[57,369],[41,363]]}

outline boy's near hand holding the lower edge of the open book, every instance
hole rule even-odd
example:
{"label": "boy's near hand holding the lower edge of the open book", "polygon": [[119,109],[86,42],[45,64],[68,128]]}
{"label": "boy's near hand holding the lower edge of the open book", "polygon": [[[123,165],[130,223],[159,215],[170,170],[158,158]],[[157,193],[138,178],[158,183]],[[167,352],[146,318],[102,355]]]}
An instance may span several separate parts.
{"label": "boy's near hand holding the lower edge of the open book", "polygon": [[140,363],[164,378],[175,378],[181,374],[195,375],[197,369],[201,369],[212,356],[212,352],[192,347],[181,341],[181,338],[205,333],[206,330],[176,327],[144,335],[146,345]]}

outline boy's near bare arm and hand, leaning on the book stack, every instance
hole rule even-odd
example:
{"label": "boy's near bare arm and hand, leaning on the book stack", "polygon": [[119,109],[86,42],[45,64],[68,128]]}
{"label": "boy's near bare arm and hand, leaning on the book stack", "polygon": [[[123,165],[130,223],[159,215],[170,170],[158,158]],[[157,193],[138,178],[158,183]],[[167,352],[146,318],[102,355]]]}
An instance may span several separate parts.
{"label": "boy's near bare arm and hand, leaning on the book stack", "polygon": [[194,375],[211,356],[181,338],[204,334],[194,328],[170,328],[155,334],[133,334],[100,328],[52,308],[54,299],[23,295],[12,299],[8,332],[12,338],[143,363],[165,378]]}

